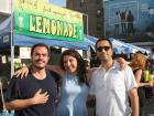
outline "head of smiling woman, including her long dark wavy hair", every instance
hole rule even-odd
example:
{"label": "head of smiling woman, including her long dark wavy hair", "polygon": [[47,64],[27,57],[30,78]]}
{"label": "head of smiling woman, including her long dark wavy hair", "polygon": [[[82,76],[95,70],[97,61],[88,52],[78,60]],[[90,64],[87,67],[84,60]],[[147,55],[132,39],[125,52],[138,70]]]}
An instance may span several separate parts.
{"label": "head of smiling woman, including her long dark wavy hair", "polygon": [[77,75],[79,83],[86,83],[87,71],[84,59],[76,50],[66,50],[61,55],[59,66],[63,71]]}

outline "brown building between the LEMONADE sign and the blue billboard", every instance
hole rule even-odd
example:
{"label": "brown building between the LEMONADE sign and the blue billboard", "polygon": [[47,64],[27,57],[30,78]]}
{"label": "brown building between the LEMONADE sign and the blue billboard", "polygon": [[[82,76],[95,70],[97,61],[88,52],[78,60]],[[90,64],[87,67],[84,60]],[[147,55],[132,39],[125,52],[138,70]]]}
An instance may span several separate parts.
{"label": "brown building between the LEMONADE sign and the blue billboard", "polygon": [[67,0],[66,8],[84,13],[85,33],[102,38],[102,0]]}

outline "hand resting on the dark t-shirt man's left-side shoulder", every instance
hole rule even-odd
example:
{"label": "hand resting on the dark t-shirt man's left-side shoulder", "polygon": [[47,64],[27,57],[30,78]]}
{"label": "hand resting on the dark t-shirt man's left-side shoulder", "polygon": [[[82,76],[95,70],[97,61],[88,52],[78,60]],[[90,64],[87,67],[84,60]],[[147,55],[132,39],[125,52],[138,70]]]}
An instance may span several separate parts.
{"label": "hand resting on the dark t-shirt man's left-side shoulder", "polygon": [[15,71],[15,73],[14,73],[14,75],[16,76],[16,77],[25,77],[26,75],[29,74],[29,67],[26,67],[26,66],[24,66],[24,67],[22,67],[22,68],[20,68],[20,70],[18,70],[18,71]]}

